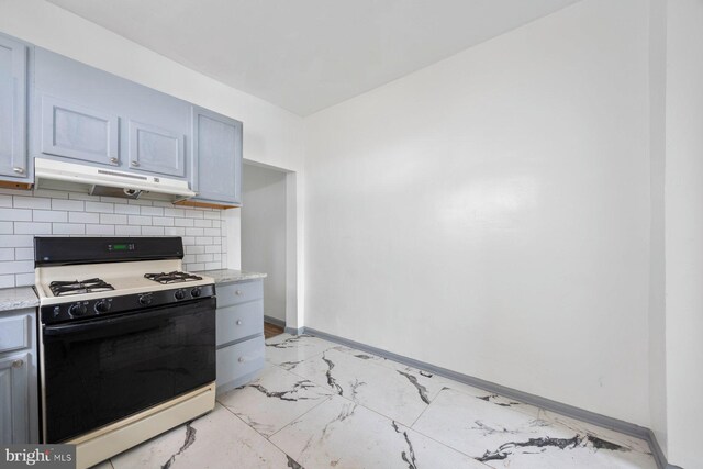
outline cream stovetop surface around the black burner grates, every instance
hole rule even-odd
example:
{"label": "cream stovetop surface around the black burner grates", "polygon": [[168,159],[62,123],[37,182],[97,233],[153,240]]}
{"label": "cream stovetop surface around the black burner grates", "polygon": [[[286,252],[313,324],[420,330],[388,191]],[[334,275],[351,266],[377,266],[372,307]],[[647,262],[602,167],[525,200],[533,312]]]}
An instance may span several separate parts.
{"label": "cream stovetop surface around the black burner grates", "polygon": [[[198,277],[202,277],[202,280],[167,284],[144,278],[144,273],[171,272],[175,270],[182,271],[182,263],[178,259],[38,267],[34,270],[34,273],[36,292],[40,298],[41,305],[214,283],[212,278],[201,273],[197,275]],[[81,281],[92,278],[100,278],[104,280],[114,287],[114,290],[54,297],[54,293],[52,293],[48,288],[48,284],[53,281]]]}

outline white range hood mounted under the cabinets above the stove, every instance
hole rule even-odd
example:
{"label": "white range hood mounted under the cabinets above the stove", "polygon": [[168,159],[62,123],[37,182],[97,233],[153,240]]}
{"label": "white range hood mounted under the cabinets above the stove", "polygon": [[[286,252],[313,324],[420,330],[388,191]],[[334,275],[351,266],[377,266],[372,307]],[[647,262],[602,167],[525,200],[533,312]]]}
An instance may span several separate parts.
{"label": "white range hood mounted under the cabinets above the stove", "polygon": [[188,188],[188,182],[183,180],[46,158],[34,158],[34,186],[38,189],[169,202],[178,202],[196,196],[196,192]]}

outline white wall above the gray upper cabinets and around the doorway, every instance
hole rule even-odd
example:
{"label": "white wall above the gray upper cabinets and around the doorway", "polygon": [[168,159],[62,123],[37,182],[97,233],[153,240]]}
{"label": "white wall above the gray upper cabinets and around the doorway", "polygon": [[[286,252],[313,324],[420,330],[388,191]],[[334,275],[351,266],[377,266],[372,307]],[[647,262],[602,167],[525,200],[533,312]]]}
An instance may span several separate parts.
{"label": "white wall above the gray upper cabinets and around the doorway", "polygon": [[[42,0],[0,2],[0,32],[241,120],[244,122],[244,155],[247,159],[302,170],[302,119],[274,104],[227,87]],[[302,198],[302,182],[298,196]],[[228,266],[238,268],[238,211],[226,211],[224,220],[230,234]],[[298,223],[302,226],[302,211]]]}

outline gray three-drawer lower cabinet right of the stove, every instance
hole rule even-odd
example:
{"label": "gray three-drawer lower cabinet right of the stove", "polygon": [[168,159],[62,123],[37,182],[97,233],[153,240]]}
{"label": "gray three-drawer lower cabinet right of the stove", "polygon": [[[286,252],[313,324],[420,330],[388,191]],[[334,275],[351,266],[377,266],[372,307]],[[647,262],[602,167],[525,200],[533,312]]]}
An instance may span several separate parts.
{"label": "gray three-drawer lower cabinet right of the stove", "polygon": [[245,384],[264,368],[261,279],[217,284],[217,393]]}

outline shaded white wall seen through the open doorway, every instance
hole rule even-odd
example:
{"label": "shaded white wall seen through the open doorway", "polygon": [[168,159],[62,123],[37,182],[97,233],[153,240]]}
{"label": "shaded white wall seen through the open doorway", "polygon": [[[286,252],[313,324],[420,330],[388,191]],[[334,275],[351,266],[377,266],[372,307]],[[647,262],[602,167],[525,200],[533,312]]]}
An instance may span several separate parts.
{"label": "shaded white wall seen through the open doorway", "polygon": [[244,165],[242,269],[266,272],[264,314],[286,321],[286,172]]}

